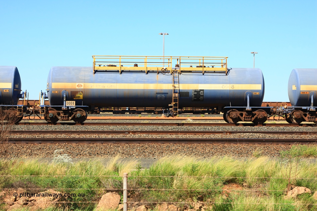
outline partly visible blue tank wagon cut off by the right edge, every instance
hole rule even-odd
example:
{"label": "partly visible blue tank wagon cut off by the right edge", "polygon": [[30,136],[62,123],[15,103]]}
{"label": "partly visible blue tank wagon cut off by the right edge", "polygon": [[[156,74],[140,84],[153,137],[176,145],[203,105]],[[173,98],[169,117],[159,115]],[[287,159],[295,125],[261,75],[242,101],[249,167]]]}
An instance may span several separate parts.
{"label": "partly visible blue tank wagon cut off by the right edge", "polygon": [[289,123],[317,123],[317,69],[293,69],[288,80],[288,98],[292,106],[285,108]]}

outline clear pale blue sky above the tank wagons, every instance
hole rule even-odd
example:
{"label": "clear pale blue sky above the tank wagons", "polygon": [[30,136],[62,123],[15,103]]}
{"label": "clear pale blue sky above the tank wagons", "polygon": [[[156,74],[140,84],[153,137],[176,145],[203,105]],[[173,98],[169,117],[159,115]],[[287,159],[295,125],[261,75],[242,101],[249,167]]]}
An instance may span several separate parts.
{"label": "clear pale blue sky above the tank wagons", "polygon": [[[317,68],[317,0],[0,0],[0,65],[19,69],[29,99],[52,66],[92,66],[91,55],[228,56],[261,68],[264,101],[288,101],[294,68]],[[69,76],[76,77],[76,76]],[[317,79],[316,79],[317,80]]]}

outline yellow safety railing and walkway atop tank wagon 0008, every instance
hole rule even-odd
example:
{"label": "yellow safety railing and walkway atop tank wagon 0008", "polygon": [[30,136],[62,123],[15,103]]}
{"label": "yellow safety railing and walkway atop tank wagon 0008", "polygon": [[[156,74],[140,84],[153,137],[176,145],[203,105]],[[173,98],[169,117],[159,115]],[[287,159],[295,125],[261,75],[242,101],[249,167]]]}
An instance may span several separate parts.
{"label": "yellow safety railing and walkway atop tank wagon 0008", "polygon": [[[120,73],[124,70],[159,72],[217,72],[227,74],[228,57],[212,56],[107,56],[93,55],[94,73],[113,70]],[[173,64],[175,67],[173,67]]]}

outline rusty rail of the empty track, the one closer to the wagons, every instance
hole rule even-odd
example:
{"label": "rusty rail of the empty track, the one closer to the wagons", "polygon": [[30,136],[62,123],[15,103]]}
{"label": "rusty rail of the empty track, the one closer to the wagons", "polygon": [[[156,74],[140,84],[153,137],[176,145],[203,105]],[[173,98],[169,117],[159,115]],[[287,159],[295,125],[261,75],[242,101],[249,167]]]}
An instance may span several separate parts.
{"label": "rusty rail of the empty track, the one closer to the wagons", "polygon": [[9,131],[10,134],[68,134],[68,135],[110,135],[110,134],[154,134],[154,135],[215,135],[261,133],[270,135],[317,135],[317,131]]}

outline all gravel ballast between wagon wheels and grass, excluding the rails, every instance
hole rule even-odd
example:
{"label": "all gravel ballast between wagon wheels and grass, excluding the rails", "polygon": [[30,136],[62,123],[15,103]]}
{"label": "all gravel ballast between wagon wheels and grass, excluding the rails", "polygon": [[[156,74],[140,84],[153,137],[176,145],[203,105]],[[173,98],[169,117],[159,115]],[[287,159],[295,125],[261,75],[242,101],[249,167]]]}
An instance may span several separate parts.
{"label": "all gravel ballast between wagon wheels and grass, excluding the rails", "polygon": [[[39,120],[41,121],[41,120]],[[103,120],[105,121],[105,120]],[[142,121],[142,120],[141,120]],[[217,120],[215,120],[217,121]],[[96,122],[96,120],[93,120]],[[121,120],[121,122],[123,122]],[[152,121],[150,121],[152,122]],[[210,121],[211,122],[211,121]],[[90,125],[14,125],[12,130],[29,131],[248,131],[241,134],[214,135],[12,135],[11,137],[127,137],[127,138],[317,138],[316,135],[265,135],[259,131],[316,131],[316,127],[250,127],[250,126],[90,126]],[[121,158],[160,158],[171,155],[184,157],[210,158],[214,156],[253,157],[263,155],[278,157],[281,150],[290,149],[283,144],[3,144],[1,157],[10,158],[52,158],[55,150],[62,150],[72,158],[115,157]]]}

